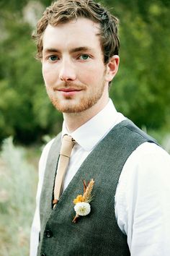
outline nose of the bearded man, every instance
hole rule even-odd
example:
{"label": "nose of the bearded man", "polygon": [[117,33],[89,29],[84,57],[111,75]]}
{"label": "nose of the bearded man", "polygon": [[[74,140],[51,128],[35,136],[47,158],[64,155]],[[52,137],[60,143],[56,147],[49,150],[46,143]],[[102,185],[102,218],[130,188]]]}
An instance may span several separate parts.
{"label": "nose of the bearded man", "polygon": [[71,61],[63,59],[59,72],[59,79],[65,82],[76,80],[76,70]]}

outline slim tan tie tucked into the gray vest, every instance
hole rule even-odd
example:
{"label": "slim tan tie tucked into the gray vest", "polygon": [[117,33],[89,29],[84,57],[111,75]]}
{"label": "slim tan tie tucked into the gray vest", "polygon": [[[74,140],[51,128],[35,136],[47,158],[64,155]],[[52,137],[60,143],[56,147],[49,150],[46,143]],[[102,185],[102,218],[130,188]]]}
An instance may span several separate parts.
{"label": "slim tan tie tucked into the gray vest", "polygon": [[66,169],[68,167],[68,162],[71,156],[71,150],[75,140],[71,136],[64,135],[61,144],[60,158],[58,161],[57,174],[55,176],[55,185],[54,185],[54,200],[53,205],[58,202],[59,197],[63,190],[63,182],[66,174]]}

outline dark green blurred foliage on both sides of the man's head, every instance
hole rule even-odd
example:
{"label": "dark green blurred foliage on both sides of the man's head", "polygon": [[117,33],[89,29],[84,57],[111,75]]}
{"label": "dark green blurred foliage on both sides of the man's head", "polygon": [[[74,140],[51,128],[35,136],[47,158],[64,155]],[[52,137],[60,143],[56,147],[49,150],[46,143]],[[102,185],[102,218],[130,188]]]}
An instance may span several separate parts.
{"label": "dark green blurred foliage on both sides of the man's head", "polygon": [[[48,100],[41,65],[34,59],[33,27],[23,12],[29,3],[0,1],[0,141],[12,135],[31,143],[61,129],[62,115]],[[45,8],[50,1],[40,3]],[[169,130],[169,1],[103,3],[120,18],[120,71],[111,98],[139,127]]]}

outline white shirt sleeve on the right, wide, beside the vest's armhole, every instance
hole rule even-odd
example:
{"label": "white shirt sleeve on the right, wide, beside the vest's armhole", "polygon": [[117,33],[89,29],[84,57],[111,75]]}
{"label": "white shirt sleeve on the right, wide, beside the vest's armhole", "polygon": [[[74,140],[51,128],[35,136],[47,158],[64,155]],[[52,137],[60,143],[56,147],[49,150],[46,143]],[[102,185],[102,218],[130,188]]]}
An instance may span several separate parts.
{"label": "white shirt sleeve on the right, wide, beside the vest's armhole", "polygon": [[153,143],[140,145],[122,169],[115,214],[132,256],[170,255],[170,155]]}

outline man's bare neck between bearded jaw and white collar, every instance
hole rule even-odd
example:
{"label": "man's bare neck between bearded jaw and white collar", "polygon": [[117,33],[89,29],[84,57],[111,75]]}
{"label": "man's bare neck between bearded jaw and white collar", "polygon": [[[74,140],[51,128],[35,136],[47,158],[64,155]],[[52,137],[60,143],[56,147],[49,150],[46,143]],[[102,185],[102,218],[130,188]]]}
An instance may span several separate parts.
{"label": "man's bare neck between bearded jaw and white collar", "polygon": [[89,121],[92,117],[96,116],[108,103],[109,98],[100,103],[99,101],[91,108],[80,113],[63,113],[63,119],[66,123],[68,132],[74,132],[76,129]]}

